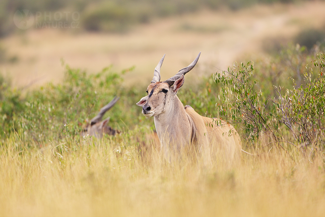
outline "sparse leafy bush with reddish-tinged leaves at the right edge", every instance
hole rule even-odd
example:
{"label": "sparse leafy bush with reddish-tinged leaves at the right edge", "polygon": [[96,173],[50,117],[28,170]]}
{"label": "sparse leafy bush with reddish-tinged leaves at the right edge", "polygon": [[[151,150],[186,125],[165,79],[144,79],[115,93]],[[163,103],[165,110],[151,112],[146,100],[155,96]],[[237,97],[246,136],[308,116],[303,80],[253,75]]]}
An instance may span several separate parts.
{"label": "sparse leafy bush with reddish-tinged leaves at the right edge", "polygon": [[317,55],[313,63],[318,69],[316,78],[312,79],[313,71],[309,69],[298,88],[293,86],[282,94],[281,87],[275,87],[279,99],[273,102],[279,111],[277,119],[290,129],[294,139],[303,147],[318,148],[325,145],[325,55]]}

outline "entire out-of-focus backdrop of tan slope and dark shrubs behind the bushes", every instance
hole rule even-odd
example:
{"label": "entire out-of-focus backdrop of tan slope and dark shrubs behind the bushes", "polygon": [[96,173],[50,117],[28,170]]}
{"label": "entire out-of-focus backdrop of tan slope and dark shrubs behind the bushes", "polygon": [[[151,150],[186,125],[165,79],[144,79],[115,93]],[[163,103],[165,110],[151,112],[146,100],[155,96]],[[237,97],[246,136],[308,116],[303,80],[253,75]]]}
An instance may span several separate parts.
{"label": "entire out-of-focus backdrop of tan slope and dark shrubs behind the bushes", "polygon": [[191,76],[209,76],[289,43],[324,43],[324,12],[324,1],[302,0],[2,0],[0,73],[16,87],[58,83],[64,62],[134,67],[123,84],[149,83],[164,53],[167,79],[202,51]]}

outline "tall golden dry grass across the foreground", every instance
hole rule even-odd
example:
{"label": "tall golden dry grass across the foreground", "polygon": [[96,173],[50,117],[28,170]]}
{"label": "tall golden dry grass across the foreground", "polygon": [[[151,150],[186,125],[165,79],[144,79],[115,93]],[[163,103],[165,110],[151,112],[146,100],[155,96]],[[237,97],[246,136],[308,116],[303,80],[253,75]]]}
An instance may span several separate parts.
{"label": "tall golden dry grass across the foreground", "polygon": [[[21,138],[21,137],[20,137]],[[120,136],[40,152],[18,136],[0,147],[1,216],[323,216],[324,153],[272,149],[225,169]],[[125,147],[124,144],[133,144]],[[54,146],[55,144],[53,144]],[[59,154],[58,154],[59,153]]]}

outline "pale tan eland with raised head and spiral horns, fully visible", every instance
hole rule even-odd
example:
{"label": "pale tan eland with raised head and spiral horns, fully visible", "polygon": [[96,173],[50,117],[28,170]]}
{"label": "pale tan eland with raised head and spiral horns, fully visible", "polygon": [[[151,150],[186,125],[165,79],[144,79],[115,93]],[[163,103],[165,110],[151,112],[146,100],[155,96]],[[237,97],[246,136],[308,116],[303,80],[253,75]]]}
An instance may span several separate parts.
{"label": "pale tan eland with raised head and spiral horns, fully visible", "polygon": [[147,88],[147,96],[137,105],[142,107],[146,117],[154,117],[156,131],[162,150],[180,150],[186,146],[194,147],[211,160],[214,150],[222,153],[226,161],[238,159],[241,153],[240,138],[236,130],[218,119],[199,115],[189,105],[183,106],[177,91],[184,84],[184,75],[198,62],[198,57],[175,76],[160,82],[160,68],[165,55],[154,71],[154,77]]}

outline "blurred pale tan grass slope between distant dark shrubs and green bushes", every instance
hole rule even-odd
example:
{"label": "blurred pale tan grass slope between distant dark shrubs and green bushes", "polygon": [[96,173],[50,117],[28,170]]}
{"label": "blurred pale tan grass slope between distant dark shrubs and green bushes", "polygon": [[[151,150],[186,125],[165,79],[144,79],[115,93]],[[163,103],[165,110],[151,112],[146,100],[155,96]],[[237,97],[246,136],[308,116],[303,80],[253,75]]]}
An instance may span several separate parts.
{"label": "blurred pale tan grass slope between distant dark shrubs and green bushes", "polygon": [[304,28],[321,27],[325,23],[324,7],[324,2],[312,1],[235,12],[202,11],[156,20],[127,34],[72,34],[61,29],[36,29],[0,41],[7,58],[18,60],[14,64],[2,63],[0,71],[10,74],[17,86],[37,78],[41,78],[39,84],[58,82],[63,75],[63,58],[71,67],[90,73],[110,64],[117,71],[136,66],[125,78],[127,84],[135,84],[152,78],[164,53],[162,79],[187,66],[202,51],[191,74],[211,75],[216,71],[214,67],[227,69],[247,53],[260,57],[265,38],[290,38]]}

